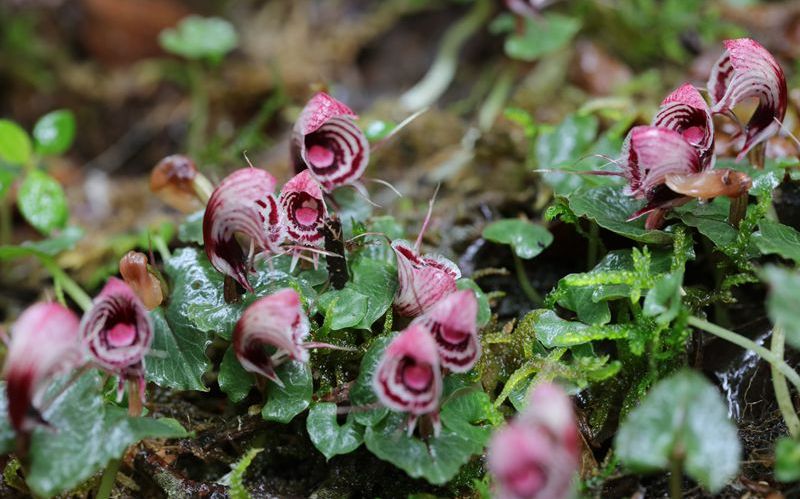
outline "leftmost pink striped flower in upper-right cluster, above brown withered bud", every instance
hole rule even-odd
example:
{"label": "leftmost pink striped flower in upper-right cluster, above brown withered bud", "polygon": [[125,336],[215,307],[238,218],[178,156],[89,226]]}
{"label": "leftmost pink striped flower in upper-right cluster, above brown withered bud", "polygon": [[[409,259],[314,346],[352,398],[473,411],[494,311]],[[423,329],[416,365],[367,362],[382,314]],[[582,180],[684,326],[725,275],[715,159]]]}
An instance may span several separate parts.
{"label": "leftmost pink striped flower in upper-right cluster, above brown withered bud", "polygon": [[634,127],[622,148],[628,179],[626,193],[651,199],[669,173],[695,173],[702,169],[697,150],[680,133],[654,126]]}

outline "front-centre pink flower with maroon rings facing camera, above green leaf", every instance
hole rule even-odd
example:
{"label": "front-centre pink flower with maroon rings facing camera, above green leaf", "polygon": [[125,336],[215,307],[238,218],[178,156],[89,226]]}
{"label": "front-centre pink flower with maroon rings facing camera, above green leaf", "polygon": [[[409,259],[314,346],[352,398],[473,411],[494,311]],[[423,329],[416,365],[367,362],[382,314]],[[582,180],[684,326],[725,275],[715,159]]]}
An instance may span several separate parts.
{"label": "front-centre pink flower with maroon rings facing camera, above green leaf", "polygon": [[442,373],[436,342],[425,326],[412,324],[386,347],[373,389],[390,409],[415,416],[436,411]]}

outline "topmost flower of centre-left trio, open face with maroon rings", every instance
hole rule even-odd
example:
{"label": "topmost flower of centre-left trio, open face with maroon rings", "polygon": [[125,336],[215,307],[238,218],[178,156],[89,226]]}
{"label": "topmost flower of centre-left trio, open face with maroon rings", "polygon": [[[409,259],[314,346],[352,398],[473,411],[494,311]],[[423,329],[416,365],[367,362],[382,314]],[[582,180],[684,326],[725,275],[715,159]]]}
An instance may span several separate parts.
{"label": "topmost flower of centre-left trio, open face with maroon rings", "polygon": [[295,170],[306,168],[326,192],[358,181],[369,162],[369,142],[356,125],[355,113],[319,92],[306,104],[294,125]]}

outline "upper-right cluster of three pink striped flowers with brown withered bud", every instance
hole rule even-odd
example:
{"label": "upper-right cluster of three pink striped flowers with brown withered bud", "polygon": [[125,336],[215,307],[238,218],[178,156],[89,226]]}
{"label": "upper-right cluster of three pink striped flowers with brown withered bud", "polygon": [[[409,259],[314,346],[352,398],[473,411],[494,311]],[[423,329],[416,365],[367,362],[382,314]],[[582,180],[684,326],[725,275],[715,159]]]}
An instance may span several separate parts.
{"label": "upper-right cluster of three pink striped flowers with brown withered bud", "polygon": [[726,40],[726,51],[708,81],[711,107],[690,84],[684,84],[661,103],[650,126],[634,127],[622,148],[626,193],[646,200],[630,220],[648,215],[645,226],[661,226],[671,208],[692,198],[737,198],[752,182],[742,172],[714,167],[714,114],[733,114],[736,104],[751,98],[758,107],[743,126],[741,159],[780,128],[786,114],[787,90],[783,70],[758,42]]}

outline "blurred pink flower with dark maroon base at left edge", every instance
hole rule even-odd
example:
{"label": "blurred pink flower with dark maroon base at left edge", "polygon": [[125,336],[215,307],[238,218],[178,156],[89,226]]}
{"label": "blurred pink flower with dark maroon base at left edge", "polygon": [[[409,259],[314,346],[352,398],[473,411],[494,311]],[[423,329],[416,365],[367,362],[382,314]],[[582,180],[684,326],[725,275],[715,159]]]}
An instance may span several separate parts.
{"label": "blurred pink flower with dark maroon base at left edge", "polygon": [[42,422],[37,406],[48,384],[80,363],[78,325],[71,310],[57,303],[36,303],[11,327],[3,378],[9,420],[18,433]]}

